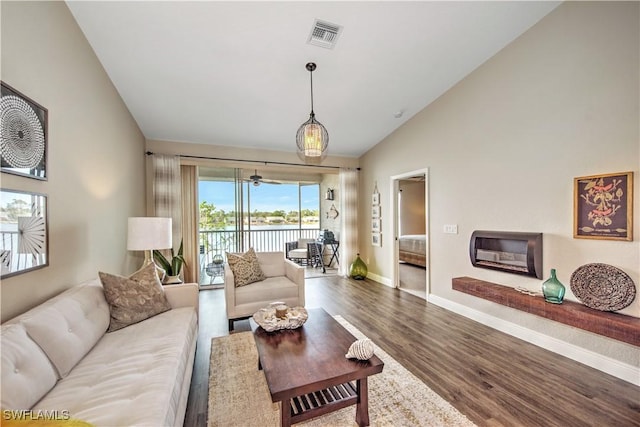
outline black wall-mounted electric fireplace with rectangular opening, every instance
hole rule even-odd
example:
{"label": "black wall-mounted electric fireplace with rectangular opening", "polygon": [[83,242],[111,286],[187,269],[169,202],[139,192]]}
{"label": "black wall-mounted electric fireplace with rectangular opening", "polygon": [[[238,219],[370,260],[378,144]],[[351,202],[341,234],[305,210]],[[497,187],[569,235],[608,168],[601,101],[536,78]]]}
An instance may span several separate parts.
{"label": "black wall-mounted electric fireplace with rectangular opening", "polygon": [[469,256],[474,267],[542,279],[542,233],[476,230]]}

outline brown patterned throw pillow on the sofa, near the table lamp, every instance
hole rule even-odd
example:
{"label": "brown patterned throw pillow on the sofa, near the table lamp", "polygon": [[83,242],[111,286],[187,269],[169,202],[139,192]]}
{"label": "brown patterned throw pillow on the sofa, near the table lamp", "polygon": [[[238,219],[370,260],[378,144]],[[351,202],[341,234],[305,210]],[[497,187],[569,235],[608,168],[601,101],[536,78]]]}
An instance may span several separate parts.
{"label": "brown patterned throw pillow on the sofa, near the table lamp", "polygon": [[155,264],[143,267],[129,278],[102,272],[98,275],[111,312],[107,332],[117,331],[171,310]]}

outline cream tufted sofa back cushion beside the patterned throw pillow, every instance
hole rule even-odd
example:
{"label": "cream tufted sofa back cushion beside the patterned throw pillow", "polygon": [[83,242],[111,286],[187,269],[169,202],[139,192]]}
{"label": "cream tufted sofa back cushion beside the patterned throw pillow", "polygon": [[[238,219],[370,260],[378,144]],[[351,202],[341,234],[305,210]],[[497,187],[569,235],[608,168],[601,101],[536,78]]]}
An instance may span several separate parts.
{"label": "cream tufted sofa back cushion beside the patterned throw pillow", "polygon": [[104,335],[109,306],[102,286],[94,281],[73,287],[41,307],[28,312],[21,323],[62,378]]}

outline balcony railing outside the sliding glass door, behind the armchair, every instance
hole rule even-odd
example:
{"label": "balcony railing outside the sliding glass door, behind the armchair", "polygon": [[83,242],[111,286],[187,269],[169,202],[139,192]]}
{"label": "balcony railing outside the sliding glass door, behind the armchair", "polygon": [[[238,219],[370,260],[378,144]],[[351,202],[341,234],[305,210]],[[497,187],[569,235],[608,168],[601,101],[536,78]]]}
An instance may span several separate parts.
{"label": "balcony railing outside the sliding glass door, behind the armchair", "polygon": [[284,252],[286,242],[315,239],[319,233],[319,228],[200,231],[200,282],[210,282],[206,267],[216,255],[226,261],[226,252],[244,252],[249,248],[256,252]]}

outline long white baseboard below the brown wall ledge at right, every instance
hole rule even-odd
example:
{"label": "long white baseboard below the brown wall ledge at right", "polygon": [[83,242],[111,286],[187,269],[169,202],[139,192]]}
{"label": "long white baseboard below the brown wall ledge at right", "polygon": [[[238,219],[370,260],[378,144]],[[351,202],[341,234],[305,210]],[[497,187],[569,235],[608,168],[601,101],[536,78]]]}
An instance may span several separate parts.
{"label": "long white baseboard below the brown wall ledge at right", "polygon": [[476,322],[482,323],[494,329],[504,332],[523,341],[535,344],[546,350],[568,357],[569,359],[583,363],[599,371],[613,375],[616,378],[640,386],[640,368],[620,362],[610,357],[603,356],[593,351],[586,350],[573,344],[550,337],[540,332],[532,331],[503,319],[494,317],[482,311],[474,310],[465,305],[458,304],[437,295],[430,294],[428,301],[437,306],[460,314]]}

